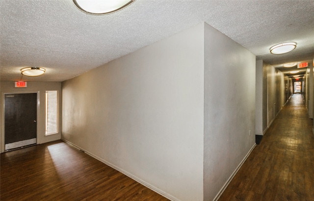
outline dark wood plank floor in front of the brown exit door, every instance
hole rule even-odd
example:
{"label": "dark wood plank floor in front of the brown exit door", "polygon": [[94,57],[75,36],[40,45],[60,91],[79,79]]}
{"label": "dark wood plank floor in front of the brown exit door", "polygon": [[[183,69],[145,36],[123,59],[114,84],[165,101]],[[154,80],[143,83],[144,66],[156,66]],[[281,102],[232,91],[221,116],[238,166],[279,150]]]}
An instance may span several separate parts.
{"label": "dark wood plank floor in front of the brown exit door", "polygon": [[62,141],[1,153],[1,201],[168,201]]}

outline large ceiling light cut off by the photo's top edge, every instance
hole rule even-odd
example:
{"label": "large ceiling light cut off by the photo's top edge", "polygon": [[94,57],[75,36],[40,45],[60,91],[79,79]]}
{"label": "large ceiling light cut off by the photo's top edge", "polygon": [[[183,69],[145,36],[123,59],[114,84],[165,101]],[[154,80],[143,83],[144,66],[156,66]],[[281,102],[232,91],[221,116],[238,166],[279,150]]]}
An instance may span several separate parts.
{"label": "large ceiling light cut off by the photo's top edge", "polygon": [[134,0],[73,0],[75,5],[85,13],[104,15],[118,11]]}

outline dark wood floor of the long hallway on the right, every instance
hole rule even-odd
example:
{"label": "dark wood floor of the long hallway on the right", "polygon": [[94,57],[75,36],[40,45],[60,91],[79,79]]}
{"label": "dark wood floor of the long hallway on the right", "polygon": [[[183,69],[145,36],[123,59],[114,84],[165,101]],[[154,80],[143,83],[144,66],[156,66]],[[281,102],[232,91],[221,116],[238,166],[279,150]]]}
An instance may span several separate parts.
{"label": "dark wood floor of the long hallway on the right", "polygon": [[314,135],[293,94],[219,201],[314,201]]}

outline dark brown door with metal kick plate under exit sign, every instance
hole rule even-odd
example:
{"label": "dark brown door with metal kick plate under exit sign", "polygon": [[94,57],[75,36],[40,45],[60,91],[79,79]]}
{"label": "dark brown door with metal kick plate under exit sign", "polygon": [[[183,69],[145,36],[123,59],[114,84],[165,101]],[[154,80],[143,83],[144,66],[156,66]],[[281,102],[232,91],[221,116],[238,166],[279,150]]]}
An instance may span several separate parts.
{"label": "dark brown door with metal kick plate under exit sign", "polygon": [[4,113],[6,150],[36,144],[37,94],[5,94]]}

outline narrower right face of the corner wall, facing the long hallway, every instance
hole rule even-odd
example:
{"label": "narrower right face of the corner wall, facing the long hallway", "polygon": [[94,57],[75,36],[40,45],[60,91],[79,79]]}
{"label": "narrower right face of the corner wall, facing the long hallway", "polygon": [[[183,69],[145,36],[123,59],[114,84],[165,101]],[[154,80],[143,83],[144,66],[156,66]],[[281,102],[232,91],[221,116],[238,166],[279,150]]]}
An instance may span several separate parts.
{"label": "narrower right face of the corner wall, facing the long hallway", "polygon": [[210,201],[255,145],[255,55],[207,24],[204,115],[204,200]]}

